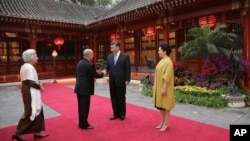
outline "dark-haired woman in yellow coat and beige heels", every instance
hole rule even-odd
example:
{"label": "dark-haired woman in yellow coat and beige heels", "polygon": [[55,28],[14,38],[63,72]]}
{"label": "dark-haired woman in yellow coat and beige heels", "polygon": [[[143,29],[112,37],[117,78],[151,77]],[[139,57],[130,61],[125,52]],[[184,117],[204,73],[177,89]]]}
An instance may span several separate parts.
{"label": "dark-haired woman in yellow coat and beige heels", "polygon": [[155,107],[160,110],[161,122],[156,127],[160,131],[168,129],[170,111],[175,106],[174,68],[170,59],[171,52],[171,47],[167,43],[159,46],[158,54],[161,60],[155,69],[152,100]]}

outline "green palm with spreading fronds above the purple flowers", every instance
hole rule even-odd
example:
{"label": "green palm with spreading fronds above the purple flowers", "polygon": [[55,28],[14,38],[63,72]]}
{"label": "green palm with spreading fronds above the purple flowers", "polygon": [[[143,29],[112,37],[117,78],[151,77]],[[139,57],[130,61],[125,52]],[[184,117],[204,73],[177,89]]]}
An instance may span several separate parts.
{"label": "green palm with spreading fronds above the purple flowers", "polygon": [[[212,54],[218,53],[225,54],[229,58],[229,47],[234,45],[237,35],[226,32],[226,28],[226,24],[217,24],[214,29],[209,26],[189,29],[187,33],[188,41],[178,49],[179,52],[184,53],[182,59],[209,58]],[[239,60],[237,56],[234,56],[233,59]]]}

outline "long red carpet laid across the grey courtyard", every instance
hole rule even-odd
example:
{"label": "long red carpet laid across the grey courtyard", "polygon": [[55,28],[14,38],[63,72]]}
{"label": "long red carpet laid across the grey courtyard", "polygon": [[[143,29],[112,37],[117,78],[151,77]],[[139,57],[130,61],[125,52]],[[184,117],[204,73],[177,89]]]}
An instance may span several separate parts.
{"label": "long red carpet laid across the grey courtyard", "polygon": [[[108,98],[94,95],[91,98],[89,122],[93,130],[78,128],[77,103],[73,89],[60,84],[44,84],[43,102],[61,113],[62,116],[46,119],[46,133],[49,137],[43,141],[228,141],[229,130],[184,119],[170,117],[170,127],[159,132],[155,126],[159,123],[159,112],[133,104],[127,104],[127,116],[124,121],[110,121],[112,115]],[[46,112],[46,111],[44,111]],[[0,129],[0,140],[9,141],[16,127]],[[23,136],[34,140],[32,135]]]}

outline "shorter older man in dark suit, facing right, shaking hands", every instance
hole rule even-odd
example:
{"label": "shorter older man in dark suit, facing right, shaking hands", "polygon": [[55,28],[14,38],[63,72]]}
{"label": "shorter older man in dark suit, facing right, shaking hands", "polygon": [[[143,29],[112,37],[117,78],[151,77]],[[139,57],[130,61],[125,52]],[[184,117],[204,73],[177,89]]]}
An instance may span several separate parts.
{"label": "shorter older man in dark suit, facing right, shaking hands", "polygon": [[83,59],[78,62],[76,68],[76,85],[75,93],[78,101],[78,116],[81,129],[93,129],[88,123],[90,96],[94,94],[94,79],[102,78],[106,74],[106,70],[97,73],[95,65],[90,61],[93,59],[93,51],[85,49],[83,51]]}

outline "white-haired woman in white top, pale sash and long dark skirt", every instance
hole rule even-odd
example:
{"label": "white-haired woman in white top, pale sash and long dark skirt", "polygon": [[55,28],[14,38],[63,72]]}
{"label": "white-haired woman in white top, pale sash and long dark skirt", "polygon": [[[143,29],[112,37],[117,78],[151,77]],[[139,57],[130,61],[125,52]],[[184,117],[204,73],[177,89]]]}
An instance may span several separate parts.
{"label": "white-haired woman in white top, pale sash and long dark skirt", "polygon": [[41,91],[43,87],[39,84],[38,75],[34,67],[38,62],[38,57],[34,49],[23,52],[23,61],[20,77],[22,82],[22,99],[24,104],[24,114],[18,122],[16,133],[12,140],[25,141],[21,138],[22,134],[34,133],[34,138],[44,138],[48,134],[43,134],[45,130],[44,114],[42,109]]}

